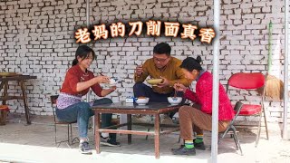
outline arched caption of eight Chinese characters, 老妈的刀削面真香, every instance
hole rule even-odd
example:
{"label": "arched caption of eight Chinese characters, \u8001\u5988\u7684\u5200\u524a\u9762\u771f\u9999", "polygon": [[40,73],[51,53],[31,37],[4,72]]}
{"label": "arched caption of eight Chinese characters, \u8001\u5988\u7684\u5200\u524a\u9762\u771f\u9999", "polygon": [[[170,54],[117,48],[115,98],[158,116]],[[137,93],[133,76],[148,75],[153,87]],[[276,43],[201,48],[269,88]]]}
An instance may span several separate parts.
{"label": "arched caption of eight Chinese characters, \u8001\u5988\u7684\u5200\u524a\u9762\u771f\u9999", "polygon": [[[128,34],[129,36],[135,34],[140,36],[142,34],[143,23],[140,21],[137,22],[129,22],[131,26],[131,31]],[[149,20],[146,22],[147,25],[147,35],[149,36],[160,36],[161,28],[164,27],[164,35],[166,37],[177,37],[180,35],[181,39],[190,39],[194,41],[197,37],[200,38],[201,43],[211,43],[211,41],[215,38],[215,30],[213,28],[200,28],[198,31],[198,26],[193,24],[182,24],[183,31],[179,33],[178,22],[162,22]],[[197,34],[196,32],[199,32]],[[112,23],[110,25],[110,33],[111,37],[124,37],[126,33],[125,24],[118,22]],[[81,28],[75,32],[76,43],[89,43],[91,42],[90,31],[88,28]],[[107,39],[109,37],[109,31],[106,29],[105,24],[94,25],[92,29],[92,34],[94,36],[94,40]]]}

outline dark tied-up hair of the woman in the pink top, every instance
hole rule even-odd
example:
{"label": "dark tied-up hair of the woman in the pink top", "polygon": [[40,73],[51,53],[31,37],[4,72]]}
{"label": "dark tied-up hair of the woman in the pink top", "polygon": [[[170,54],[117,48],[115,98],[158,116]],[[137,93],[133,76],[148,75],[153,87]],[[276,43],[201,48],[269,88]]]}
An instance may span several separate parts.
{"label": "dark tied-up hair of the woman in the pink top", "polygon": [[202,70],[202,67],[200,65],[201,63],[201,57],[198,55],[197,59],[194,59],[192,57],[188,57],[180,65],[180,68],[186,69],[189,72],[192,72],[193,70],[197,70],[200,72]]}

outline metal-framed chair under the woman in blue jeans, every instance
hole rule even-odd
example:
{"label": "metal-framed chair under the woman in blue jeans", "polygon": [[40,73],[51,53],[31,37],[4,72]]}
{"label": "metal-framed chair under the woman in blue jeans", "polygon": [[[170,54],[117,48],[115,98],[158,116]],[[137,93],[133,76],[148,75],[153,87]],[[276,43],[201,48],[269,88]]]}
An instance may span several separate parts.
{"label": "metal-framed chair under the woman in blue jeans", "polygon": [[[76,121],[73,122],[65,122],[65,121],[60,121],[57,120],[56,116],[55,116],[55,106],[56,106],[56,100],[58,98],[58,95],[53,95],[51,96],[51,104],[52,104],[52,108],[53,108],[53,120],[54,120],[54,141],[55,141],[55,145],[57,147],[59,147],[63,142],[66,142],[66,145],[71,148],[71,146],[77,142],[80,141],[79,138],[75,137],[73,139],[73,129],[72,129],[72,125],[73,123],[76,123]],[[56,126],[57,125],[66,125],[67,126],[67,139],[61,140],[61,141],[57,141],[56,138]]]}

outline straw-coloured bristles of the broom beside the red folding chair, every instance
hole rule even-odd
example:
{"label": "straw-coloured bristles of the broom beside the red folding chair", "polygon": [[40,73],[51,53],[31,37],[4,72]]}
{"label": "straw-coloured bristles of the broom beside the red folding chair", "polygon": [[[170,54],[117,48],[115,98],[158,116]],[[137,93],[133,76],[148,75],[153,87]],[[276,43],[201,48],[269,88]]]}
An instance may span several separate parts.
{"label": "straw-coloured bristles of the broom beside the red folding chair", "polygon": [[[257,89],[261,95],[264,88]],[[275,76],[266,75],[265,96],[273,100],[282,100],[284,93],[284,83]]]}

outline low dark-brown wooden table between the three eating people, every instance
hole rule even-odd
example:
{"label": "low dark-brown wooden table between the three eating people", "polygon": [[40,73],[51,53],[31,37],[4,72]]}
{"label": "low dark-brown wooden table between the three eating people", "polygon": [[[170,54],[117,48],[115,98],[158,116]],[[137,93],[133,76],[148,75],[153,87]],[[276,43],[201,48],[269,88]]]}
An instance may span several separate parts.
{"label": "low dark-brown wooden table between the three eating people", "polygon": [[[128,134],[128,144],[131,144],[131,134],[134,135],[152,135],[154,136],[154,144],[155,144],[155,158],[160,158],[160,135],[162,134],[169,134],[174,131],[179,130],[178,125],[160,125],[160,114],[169,113],[170,111],[177,111],[179,110],[180,105],[170,105],[169,103],[157,103],[152,102],[148,103],[147,105],[140,106],[138,104],[133,103],[125,103],[125,102],[118,102],[112,104],[102,104],[93,106],[92,110],[94,110],[95,115],[95,148],[97,154],[101,152],[100,150],[100,133],[121,133],[121,134]],[[122,123],[119,125],[113,125],[110,127],[102,128],[101,129],[101,122],[100,122],[100,113],[118,113],[118,114],[127,114],[127,123]],[[155,116],[154,122],[154,132],[149,131],[139,131],[139,130],[131,130],[132,122],[131,122],[131,114],[149,114]],[[148,124],[141,124],[141,123],[134,123],[134,125],[148,125]],[[128,126],[128,129],[118,129],[123,126]],[[168,130],[160,131],[160,127],[171,128]]]}

